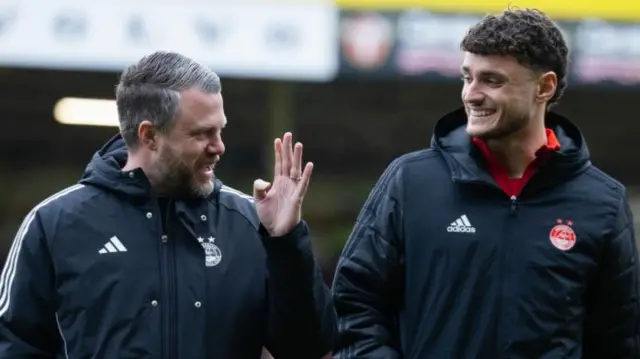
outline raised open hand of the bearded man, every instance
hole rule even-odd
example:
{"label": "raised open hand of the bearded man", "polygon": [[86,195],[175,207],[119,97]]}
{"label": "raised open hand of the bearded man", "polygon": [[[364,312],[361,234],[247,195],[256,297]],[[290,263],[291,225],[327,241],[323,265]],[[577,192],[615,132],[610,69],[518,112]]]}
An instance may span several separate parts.
{"label": "raised open hand of the bearded man", "polygon": [[256,180],[253,195],[260,222],[272,237],[289,233],[302,218],[302,202],[309,187],[313,163],[302,170],[302,144],[292,146],[292,135],[274,142],[273,182]]}

